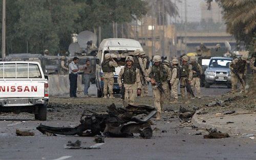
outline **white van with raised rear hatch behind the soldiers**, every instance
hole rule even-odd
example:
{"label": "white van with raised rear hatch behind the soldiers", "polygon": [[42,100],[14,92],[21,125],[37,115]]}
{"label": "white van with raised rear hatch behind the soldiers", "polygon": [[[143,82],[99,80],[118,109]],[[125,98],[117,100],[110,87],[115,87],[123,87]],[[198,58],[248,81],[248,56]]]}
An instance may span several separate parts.
{"label": "white van with raised rear hatch behind the soldiers", "polygon": [[117,77],[121,70],[121,67],[125,65],[125,57],[133,55],[134,51],[143,51],[140,42],[134,39],[125,38],[109,38],[103,39],[98,48],[97,62],[96,62],[96,86],[97,86],[97,96],[102,97],[103,95],[103,72],[101,70],[101,62],[104,59],[106,53],[115,54],[115,58],[118,67],[115,68],[114,73],[114,94],[119,94],[120,87],[117,83]]}

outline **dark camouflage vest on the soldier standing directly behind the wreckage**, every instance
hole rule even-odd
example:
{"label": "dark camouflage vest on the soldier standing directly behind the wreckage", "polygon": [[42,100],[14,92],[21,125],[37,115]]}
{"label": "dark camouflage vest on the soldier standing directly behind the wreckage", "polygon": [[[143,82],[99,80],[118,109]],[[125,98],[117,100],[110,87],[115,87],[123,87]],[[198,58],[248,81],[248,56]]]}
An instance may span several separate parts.
{"label": "dark camouflage vest on the soldier standing directly behind the wreckage", "polygon": [[134,84],[136,82],[136,67],[132,66],[129,68],[125,66],[122,78],[124,84]]}

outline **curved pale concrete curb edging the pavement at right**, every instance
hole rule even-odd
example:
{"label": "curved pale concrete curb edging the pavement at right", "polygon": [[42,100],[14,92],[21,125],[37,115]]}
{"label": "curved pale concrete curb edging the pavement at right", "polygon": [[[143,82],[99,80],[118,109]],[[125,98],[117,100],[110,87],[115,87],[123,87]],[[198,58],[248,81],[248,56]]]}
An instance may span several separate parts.
{"label": "curved pale concrete curb edging the pavement at right", "polygon": [[202,109],[196,111],[196,113],[194,114],[194,116],[191,118],[191,122],[193,122],[193,124],[197,127],[200,128],[216,128],[218,131],[224,132],[224,133],[231,133],[231,134],[243,134],[243,133],[253,133],[256,135],[256,131],[252,130],[252,129],[244,129],[244,128],[228,128],[228,127],[223,127],[220,125],[215,125],[215,124],[210,124],[207,123],[207,119],[206,122],[202,122],[203,119],[200,119],[199,116],[197,115],[198,112],[202,111]]}

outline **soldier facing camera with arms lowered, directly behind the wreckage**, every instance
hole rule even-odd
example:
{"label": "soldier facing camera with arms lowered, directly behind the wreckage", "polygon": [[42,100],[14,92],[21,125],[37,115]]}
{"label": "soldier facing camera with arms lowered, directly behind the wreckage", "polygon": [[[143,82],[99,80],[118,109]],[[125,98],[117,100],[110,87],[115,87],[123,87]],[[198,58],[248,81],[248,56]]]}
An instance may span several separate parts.
{"label": "soldier facing camera with arms lowered, directly behind the wreckage", "polygon": [[[141,82],[139,69],[136,68],[133,63],[134,59],[132,56],[125,58],[126,65],[121,68],[118,75],[118,84],[122,86],[122,80],[125,88],[123,105],[131,104],[134,105],[135,97],[141,94]],[[125,104],[126,103],[126,104]]]}

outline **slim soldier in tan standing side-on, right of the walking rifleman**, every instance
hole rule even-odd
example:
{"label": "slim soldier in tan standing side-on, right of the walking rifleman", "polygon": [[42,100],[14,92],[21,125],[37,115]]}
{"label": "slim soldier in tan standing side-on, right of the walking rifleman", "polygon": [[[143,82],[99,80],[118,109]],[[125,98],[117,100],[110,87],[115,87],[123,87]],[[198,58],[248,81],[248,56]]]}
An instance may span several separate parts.
{"label": "slim soldier in tan standing side-on, right of the walking rifleman", "polygon": [[173,67],[172,67],[172,78],[170,79],[170,85],[172,86],[172,92],[174,96],[173,103],[178,102],[178,83],[179,83],[179,76],[180,76],[180,69],[179,69],[179,61],[178,59],[172,60]]}

